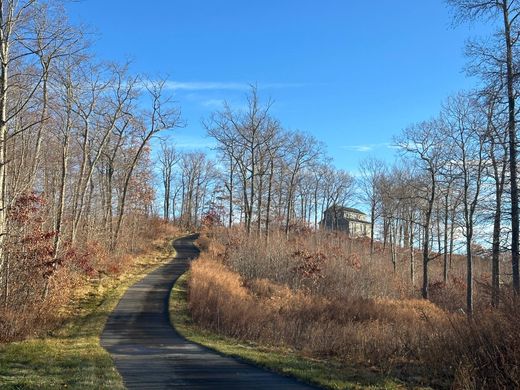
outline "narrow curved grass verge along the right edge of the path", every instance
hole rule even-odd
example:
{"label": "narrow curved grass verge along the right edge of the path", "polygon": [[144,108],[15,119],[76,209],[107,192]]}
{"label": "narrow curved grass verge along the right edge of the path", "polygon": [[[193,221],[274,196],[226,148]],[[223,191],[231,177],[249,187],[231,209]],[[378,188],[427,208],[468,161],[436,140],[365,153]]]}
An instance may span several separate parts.
{"label": "narrow curved grass verge along the right edge of the path", "polygon": [[224,337],[197,326],[190,317],[187,302],[189,273],[182,275],[170,294],[170,320],[186,339],[219,353],[240,358],[257,366],[326,389],[403,389],[398,379],[363,367],[345,366],[336,361],[311,359],[294,350],[267,347]]}

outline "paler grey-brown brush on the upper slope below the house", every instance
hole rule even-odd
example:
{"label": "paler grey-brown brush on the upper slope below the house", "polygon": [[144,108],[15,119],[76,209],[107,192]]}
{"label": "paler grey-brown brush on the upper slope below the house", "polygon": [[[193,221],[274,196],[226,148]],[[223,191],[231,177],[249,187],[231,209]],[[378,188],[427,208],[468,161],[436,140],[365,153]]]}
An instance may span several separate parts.
{"label": "paler grey-brown brush on the upper slope below the house", "polygon": [[[410,251],[397,250],[394,271],[389,248],[376,245],[370,254],[367,239],[349,239],[341,234],[316,233],[286,240],[274,232],[265,237],[248,237],[239,230],[222,231],[216,236],[222,253],[215,253],[226,265],[246,280],[266,278],[287,284],[293,289],[305,288],[330,298],[349,296],[364,298],[420,298],[422,283],[421,253],[415,253],[415,277],[410,273]],[[509,265],[503,265],[507,274]],[[510,267],[510,266],[509,266]],[[475,301],[486,307],[490,299],[483,288],[490,280],[491,264],[476,258]],[[465,259],[453,256],[449,283],[443,283],[443,263],[438,257],[429,264],[431,300],[439,306],[457,311],[465,308]]]}

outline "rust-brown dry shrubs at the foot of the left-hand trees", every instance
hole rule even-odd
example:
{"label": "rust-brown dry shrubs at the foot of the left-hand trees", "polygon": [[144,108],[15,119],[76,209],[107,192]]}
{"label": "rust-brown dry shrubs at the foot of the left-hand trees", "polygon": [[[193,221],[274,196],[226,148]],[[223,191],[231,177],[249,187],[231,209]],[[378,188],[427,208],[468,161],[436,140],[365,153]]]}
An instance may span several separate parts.
{"label": "rust-brown dry shrubs at the foot of the left-hand trees", "polygon": [[53,258],[54,234],[43,230],[44,204],[35,195],[21,197],[13,208],[12,234],[6,243],[9,283],[0,289],[0,342],[42,334],[63,321],[75,291],[103,277],[127,271],[135,261],[132,253],[153,249],[177,228],[156,219],[142,221],[143,236],[132,246],[121,245],[111,253],[102,241],[64,240],[57,260]]}

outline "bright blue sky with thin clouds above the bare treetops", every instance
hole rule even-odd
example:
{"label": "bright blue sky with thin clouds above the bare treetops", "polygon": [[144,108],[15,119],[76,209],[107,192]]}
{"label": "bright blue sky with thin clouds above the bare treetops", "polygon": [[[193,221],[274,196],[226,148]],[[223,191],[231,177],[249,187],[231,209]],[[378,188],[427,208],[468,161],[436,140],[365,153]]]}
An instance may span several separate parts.
{"label": "bright blue sky with thin clouds above the bare treetops", "polygon": [[249,83],[289,129],[313,134],[338,168],[391,159],[392,137],[470,88],[464,43],[442,0],[81,0],[70,17],[96,32],[102,59],[168,77],[187,126],[173,139],[205,149],[201,119]]}

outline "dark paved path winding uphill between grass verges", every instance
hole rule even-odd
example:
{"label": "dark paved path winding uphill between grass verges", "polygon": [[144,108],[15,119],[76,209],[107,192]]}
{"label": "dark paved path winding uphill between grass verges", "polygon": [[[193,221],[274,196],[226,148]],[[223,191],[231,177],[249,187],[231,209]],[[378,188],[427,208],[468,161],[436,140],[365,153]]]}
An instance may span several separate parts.
{"label": "dark paved path winding uphill between grass verges", "polygon": [[198,256],[195,236],[174,242],[177,256],[128,289],[109,316],[101,345],[129,389],[311,389],[221,356],[180,336],[168,319],[173,283]]}

